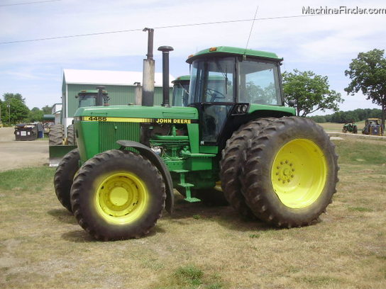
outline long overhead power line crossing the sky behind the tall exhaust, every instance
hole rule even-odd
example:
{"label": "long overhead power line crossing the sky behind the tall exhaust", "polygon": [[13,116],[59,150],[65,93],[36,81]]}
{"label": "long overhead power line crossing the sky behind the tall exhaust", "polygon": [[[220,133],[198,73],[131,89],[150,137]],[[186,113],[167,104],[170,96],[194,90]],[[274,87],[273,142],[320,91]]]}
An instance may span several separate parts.
{"label": "long overhead power line crossing the sky behind the tall exhaust", "polygon": [[[325,15],[324,14],[312,14],[312,15],[278,16],[278,17],[267,17],[267,18],[214,21],[214,22],[204,22],[204,23],[159,26],[159,27],[154,27],[154,29],[180,28],[180,27],[189,27],[189,26],[203,26],[203,25],[213,25],[213,24],[225,24],[225,23],[236,23],[236,22],[246,22],[246,21],[264,21],[264,20],[273,20],[273,19],[286,19],[286,18],[299,18],[299,17],[312,17],[312,16],[325,16]],[[49,38],[15,40],[15,41],[0,42],[0,45],[22,43],[22,42],[35,42],[35,41],[43,41],[43,40],[55,40],[55,39],[64,39],[64,38],[76,38],[76,37],[104,35],[104,34],[113,34],[113,33],[126,33],[126,32],[133,32],[133,31],[142,31],[142,30],[143,30],[143,28],[134,28],[134,29],[127,29],[127,30],[115,30],[115,31],[97,32],[97,33],[85,33],[85,34],[76,34],[76,35],[55,36],[55,37],[49,37]]]}

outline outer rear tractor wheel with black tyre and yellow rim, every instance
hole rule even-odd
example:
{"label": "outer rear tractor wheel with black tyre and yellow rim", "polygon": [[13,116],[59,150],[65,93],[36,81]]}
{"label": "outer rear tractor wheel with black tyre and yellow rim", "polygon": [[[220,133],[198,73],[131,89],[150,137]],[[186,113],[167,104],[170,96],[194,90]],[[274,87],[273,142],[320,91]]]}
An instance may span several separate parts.
{"label": "outer rear tractor wheel with black tyre and yellow rim", "polygon": [[329,136],[313,121],[289,117],[272,122],[246,154],[246,203],[273,225],[309,225],[336,193],[337,159]]}

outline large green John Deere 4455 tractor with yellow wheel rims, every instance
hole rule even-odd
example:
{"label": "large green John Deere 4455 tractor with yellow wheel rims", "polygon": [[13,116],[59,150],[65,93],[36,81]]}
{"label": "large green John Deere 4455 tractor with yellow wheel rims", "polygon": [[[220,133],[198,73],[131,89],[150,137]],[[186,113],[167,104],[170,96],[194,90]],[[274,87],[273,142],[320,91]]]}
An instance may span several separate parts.
{"label": "large green John Deere 4455 tractor with yellow wheel rims", "polygon": [[[187,107],[170,107],[168,54],[162,106],[79,108],[78,148],[55,174],[55,191],[95,239],[148,234],[173,189],[187,202],[222,193],[241,215],[301,227],[331,203],[338,181],[329,136],[294,116],[274,53],[211,47],[191,65]],[[80,165],[80,166],[79,166]],[[223,197],[224,197],[223,196]]]}

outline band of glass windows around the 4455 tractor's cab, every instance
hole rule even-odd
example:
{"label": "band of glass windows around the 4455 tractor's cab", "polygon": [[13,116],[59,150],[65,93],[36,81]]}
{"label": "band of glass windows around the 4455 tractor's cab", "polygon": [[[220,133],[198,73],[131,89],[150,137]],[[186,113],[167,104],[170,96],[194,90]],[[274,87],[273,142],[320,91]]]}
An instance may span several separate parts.
{"label": "band of glass windows around the 4455 tractor's cab", "polygon": [[239,102],[282,106],[278,64],[261,59],[218,57],[194,60],[189,89],[188,104]]}

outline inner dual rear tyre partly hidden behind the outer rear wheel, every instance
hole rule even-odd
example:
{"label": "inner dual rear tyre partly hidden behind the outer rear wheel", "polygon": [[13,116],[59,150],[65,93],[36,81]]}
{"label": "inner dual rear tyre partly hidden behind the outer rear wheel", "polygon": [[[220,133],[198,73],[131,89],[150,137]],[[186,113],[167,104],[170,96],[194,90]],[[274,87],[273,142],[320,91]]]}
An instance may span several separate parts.
{"label": "inner dual rear tyre partly hidden behind the outer rear wheel", "polygon": [[241,126],[226,142],[220,162],[221,187],[226,200],[241,215],[253,218],[254,215],[246,205],[241,188],[241,166],[243,166],[243,154],[248,145],[248,140],[259,134],[260,130],[276,118],[260,118]]}

